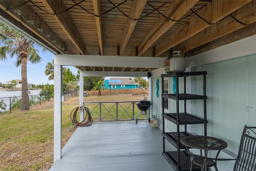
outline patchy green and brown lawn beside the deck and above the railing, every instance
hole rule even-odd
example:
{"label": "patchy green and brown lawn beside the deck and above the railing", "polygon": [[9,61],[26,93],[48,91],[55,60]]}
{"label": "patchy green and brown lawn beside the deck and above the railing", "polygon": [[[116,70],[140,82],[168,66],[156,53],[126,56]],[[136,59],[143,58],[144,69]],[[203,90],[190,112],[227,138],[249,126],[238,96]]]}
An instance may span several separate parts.
{"label": "patchy green and brown lawn beside the deck and above the railing", "polygon": [[[143,97],[92,96],[84,97],[84,101],[138,101]],[[62,103],[62,147],[74,133],[75,128],[70,131],[70,112],[78,105],[79,97]],[[0,171],[50,169],[53,164],[53,106],[53,101],[44,101],[41,105],[31,106],[30,111],[14,111],[0,115]],[[121,109],[122,114],[124,111]]]}

